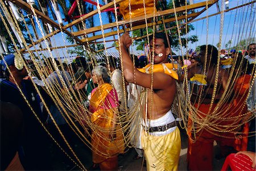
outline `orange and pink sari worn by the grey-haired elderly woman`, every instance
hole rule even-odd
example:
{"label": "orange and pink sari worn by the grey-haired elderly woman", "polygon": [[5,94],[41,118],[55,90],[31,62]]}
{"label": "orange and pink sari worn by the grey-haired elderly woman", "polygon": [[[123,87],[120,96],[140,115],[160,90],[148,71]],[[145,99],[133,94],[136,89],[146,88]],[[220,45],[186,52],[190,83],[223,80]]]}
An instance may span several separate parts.
{"label": "orange and pink sari worn by the grey-haired elderly woman", "polygon": [[[90,111],[94,129],[92,131],[93,162],[100,163],[111,157],[123,153],[124,141],[121,128],[115,126],[114,139],[110,139],[114,108],[118,106],[117,93],[110,84],[103,84],[92,91],[90,99]],[[118,119],[117,119],[118,120]]]}

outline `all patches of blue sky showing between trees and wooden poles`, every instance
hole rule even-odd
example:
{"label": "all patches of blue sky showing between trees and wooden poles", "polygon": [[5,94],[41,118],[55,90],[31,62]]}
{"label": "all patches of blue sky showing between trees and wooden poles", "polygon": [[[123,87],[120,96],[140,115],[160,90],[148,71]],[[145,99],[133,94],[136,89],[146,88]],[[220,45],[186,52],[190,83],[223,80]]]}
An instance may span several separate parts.
{"label": "all patches of blue sky showing between trees and wooden poles", "polygon": [[[194,0],[194,3],[203,2],[201,0]],[[242,5],[244,3],[251,2],[249,0],[243,0],[243,1],[229,1],[229,8],[236,7],[238,5]],[[100,3],[102,3],[100,1]],[[221,1],[218,2],[218,5],[221,8]],[[94,7],[96,9],[96,7]],[[252,12],[251,12],[252,11]],[[208,11],[205,11],[203,14],[198,16],[196,19],[199,19],[203,16],[214,14],[217,12],[216,5],[213,5],[208,9]],[[250,20],[249,20],[249,16]],[[224,29],[222,32],[222,46],[221,48],[225,47],[225,44],[232,40],[231,46],[233,47],[236,45],[240,40],[246,39],[249,37],[249,33],[253,34],[253,37],[255,37],[255,24],[251,24],[253,21],[253,16],[255,19],[255,4],[254,6],[246,6],[242,7],[237,10],[225,12],[225,18],[224,18]],[[108,23],[108,16],[106,12],[101,13],[102,16],[102,22],[103,24]],[[64,18],[64,17],[63,17]],[[235,21],[236,20],[236,21]],[[56,21],[57,22],[57,21]],[[98,14],[94,15],[94,24],[96,26],[100,26],[100,19],[98,19]],[[220,38],[220,15],[212,16],[208,19],[209,27],[208,27],[208,33],[207,33],[207,19],[199,20],[198,22],[193,22],[193,26],[195,27],[194,31],[189,32],[188,35],[197,35],[199,36],[199,41],[197,41],[194,44],[188,44],[188,48],[195,49],[198,45],[203,45],[207,43],[207,35],[208,35],[208,43],[207,44],[213,44],[216,46],[216,44],[219,42]],[[64,25],[67,23],[64,23]],[[110,30],[109,30],[110,31]],[[105,32],[109,32],[105,30]],[[40,32],[38,30],[38,32]],[[97,32],[97,34],[101,34],[100,32]],[[66,35],[64,34],[64,37]],[[91,35],[88,35],[91,36]],[[117,37],[117,36],[116,36]],[[108,37],[106,40],[113,39],[113,37]],[[66,45],[69,45],[67,40],[63,40],[63,36],[61,34],[55,35],[53,38],[51,38],[51,41],[53,43],[53,46],[62,46],[64,45],[64,41]],[[102,40],[98,40],[102,41]],[[107,43],[107,47],[112,46],[112,43]],[[32,48],[31,48],[32,49]],[[135,48],[133,48],[135,50]],[[115,51],[114,48],[108,49],[108,51]],[[185,49],[183,49],[185,51]],[[67,51],[65,49],[60,49],[57,51],[57,53],[53,53],[55,56],[66,56]],[[47,52],[45,52],[47,54]],[[176,52],[177,54],[181,54],[180,51]]]}

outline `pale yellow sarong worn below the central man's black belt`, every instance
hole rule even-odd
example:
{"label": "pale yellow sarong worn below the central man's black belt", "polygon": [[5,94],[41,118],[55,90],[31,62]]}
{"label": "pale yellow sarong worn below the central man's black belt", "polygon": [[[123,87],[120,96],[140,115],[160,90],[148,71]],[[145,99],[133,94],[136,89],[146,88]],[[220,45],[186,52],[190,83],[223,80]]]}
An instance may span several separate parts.
{"label": "pale yellow sarong worn below the central man's black belt", "polygon": [[147,160],[147,171],[177,170],[180,157],[180,131],[164,136],[154,136],[142,131],[142,147]]}

